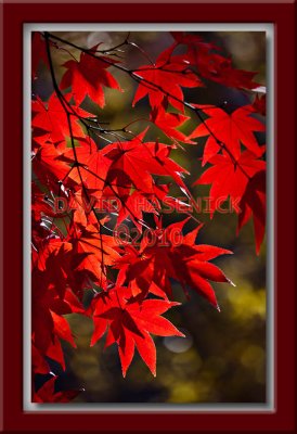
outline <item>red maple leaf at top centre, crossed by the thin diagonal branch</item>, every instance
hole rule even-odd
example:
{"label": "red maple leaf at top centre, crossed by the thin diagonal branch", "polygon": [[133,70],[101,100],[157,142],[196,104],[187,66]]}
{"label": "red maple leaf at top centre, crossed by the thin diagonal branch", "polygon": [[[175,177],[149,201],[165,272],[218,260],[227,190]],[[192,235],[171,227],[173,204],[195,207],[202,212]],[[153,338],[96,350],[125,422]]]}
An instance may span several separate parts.
{"label": "red maple leaf at top centre, crossed by the thin diagonal branch", "polygon": [[156,60],[154,65],[139,67],[133,74],[140,79],[132,105],[146,94],[150,104],[154,108],[163,101],[168,102],[179,111],[183,112],[183,92],[181,87],[196,88],[202,86],[199,78],[189,69],[189,65],[180,62],[178,56],[172,56],[173,47],[169,47]]}

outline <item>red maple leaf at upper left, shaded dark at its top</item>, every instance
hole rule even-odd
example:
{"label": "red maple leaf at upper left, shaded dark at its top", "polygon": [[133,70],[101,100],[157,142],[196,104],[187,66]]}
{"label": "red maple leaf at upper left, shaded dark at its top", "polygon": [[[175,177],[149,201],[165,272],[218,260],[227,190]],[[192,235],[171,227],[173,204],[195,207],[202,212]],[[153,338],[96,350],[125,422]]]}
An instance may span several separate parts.
{"label": "red maple leaf at upper left, shaded dark at its top", "polygon": [[[92,47],[90,53],[95,53],[98,46]],[[104,62],[107,60],[108,63]],[[64,63],[64,67],[67,68],[61,80],[61,89],[72,87],[72,95],[77,105],[80,105],[85,98],[89,95],[91,100],[96,102],[101,107],[105,105],[105,98],[103,86],[121,90],[113,75],[106,71],[112,63],[116,63],[114,60],[104,56],[88,55],[88,53],[81,52],[79,62],[73,60]]]}

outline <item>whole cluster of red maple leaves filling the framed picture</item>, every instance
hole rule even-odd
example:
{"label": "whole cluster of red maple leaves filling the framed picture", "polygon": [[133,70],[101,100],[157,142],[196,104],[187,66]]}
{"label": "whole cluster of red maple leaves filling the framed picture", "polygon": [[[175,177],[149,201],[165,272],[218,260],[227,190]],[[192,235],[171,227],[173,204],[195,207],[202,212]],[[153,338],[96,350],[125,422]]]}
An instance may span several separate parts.
{"label": "whole cluster of red maple leaves filling the framed picture", "polygon": [[[178,305],[172,301],[171,281],[178,281],[188,295],[189,290],[196,291],[218,308],[210,281],[230,281],[210,260],[231,252],[196,244],[202,225],[184,234],[181,242],[171,242],[175,231],[184,232],[189,218],[166,228],[162,225],[163,204],[170,201],[173,207],[178,206],[178,200],[169,194],[168,178],[192,199],[184,180],[188,171],[170,157],[180,142],[194,145],[193,139],[207,137],[202,164],[209,167],[197,183],[211,184],[214,204],[218,197],[240,200],[238,229],[254,217],[259,251],[264,233],[266,163],[264,148],[258,144],[254,132],[263,131],[255,113],[264,113],[264,102],[257,97],[253,104],[228,114],[222,108],[184,102],[182,90],[205,86],[205,80],[255,89],[255,73],[233,68],[231,60],[220,54],[217,47],[197,36],[172,36],[175,42],[155,63],[128,69],[113,56],[116,49],[105,55],[100,43],[89,50],[80,48],[76,59],[75,44],[54,35],[34,35],[33,78],[38,79],[36,74],[42,61],[53,85],[48,100],[36,94],[33,98],[34,376],[49,374],[52,360],[65,370],[61,341],[76,346],[66,315],[80,314],[93,320],[90,345],[106,336],[106,347],[118,346],[124,375],[135,348],[155,375],[156,348],[151,334],[182,335],[163,317]],[[178,46],[185,47],[183,54],[175,54]],[[52,59],[56,50],[69,54],[62,65],[64,75],[60,82]],[[168,137],[169,144],[157,138],[146,141],[150,127],[138,135],[124,127],[122,138],[116,130],[106,130],[100,118],[81,107],[89,98],[104,108],[104,89],[121,91],[113,75],[115,69],[138,82],[133,105],[148,97],[147,120]],[[201,119],[191,135],[178,129],[189,119],[185,107]],[[104,137],[113,140],[106,144]],[[70,209],[61,212],[54,206],[56,197],[70,204]],[[117,213],[109,199],[120,204]],[[86,207],[92,201],[105,203],[104,209],[98,213],[92,205]],[[215,210],[212,205],[211,214]],[[141,232],[147,228],[145,216],[150,214],[155,221],[151,228],[154,242],[143,237],[139,245],[119,245],[111,226],[113,230],[129,220]],[[94,296],[86,306],[88,290]],[[52,376],[38,390],[34,387],[34,401],[65,403],[77,395],[75,391],[55,391],[55,381],[56,376]]]}

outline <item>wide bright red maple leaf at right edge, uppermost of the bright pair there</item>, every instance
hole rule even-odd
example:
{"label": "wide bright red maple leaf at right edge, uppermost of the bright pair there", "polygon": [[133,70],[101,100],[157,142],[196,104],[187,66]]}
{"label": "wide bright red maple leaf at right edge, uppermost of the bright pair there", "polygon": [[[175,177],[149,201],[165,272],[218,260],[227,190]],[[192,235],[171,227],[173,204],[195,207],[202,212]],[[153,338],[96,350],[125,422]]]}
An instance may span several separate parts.
{"label": "wide bright red maple leaf at right edge, uppermost of the bright pair there", "polygon": [[254,131],[263,131],[264,125],[250,116],[255,112],[251,105],[240,107],[231,115],[217,107],[203,111],[209,118],[189,136],[189,139],[209,136],[204,149],[203,165],[222,149],[218,142],[223,143],[235,158],[240,157],[241,144],[255,155],[261,155]]}

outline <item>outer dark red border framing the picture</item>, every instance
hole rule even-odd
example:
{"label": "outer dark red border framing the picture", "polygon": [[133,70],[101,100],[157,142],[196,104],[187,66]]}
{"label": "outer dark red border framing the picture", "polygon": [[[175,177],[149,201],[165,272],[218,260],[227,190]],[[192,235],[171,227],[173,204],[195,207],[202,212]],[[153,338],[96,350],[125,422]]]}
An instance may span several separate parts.
{"label": "outer dark red border framing the picture", "polygon": [[[9,431],[295,432],[295,29],[292,3],[3,5],[3,426]],[[196,17],[196,20],[195,20]],[[274,23],[275,25],[275,318],[276,411],[270,413],[23,412],[23,23]],[[2,379],[1,379],[2,380]]]}

